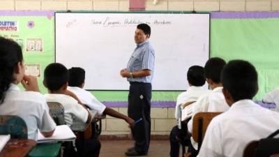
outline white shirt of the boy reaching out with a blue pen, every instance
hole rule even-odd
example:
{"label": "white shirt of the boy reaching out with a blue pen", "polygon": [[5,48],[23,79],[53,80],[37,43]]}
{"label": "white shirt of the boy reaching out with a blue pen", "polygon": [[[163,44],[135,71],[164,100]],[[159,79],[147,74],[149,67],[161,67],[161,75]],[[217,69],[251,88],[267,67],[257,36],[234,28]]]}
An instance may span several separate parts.
{"label": "white shirt of the boy reaching out with a blue pen", "polygon": [[68,87],[68,90],[72,91],[84,105],[87,105],[92,110],[96,110],[98,115],[103,114],[106,106],[100,103],[89,91],[81,89],[80,87]]}

